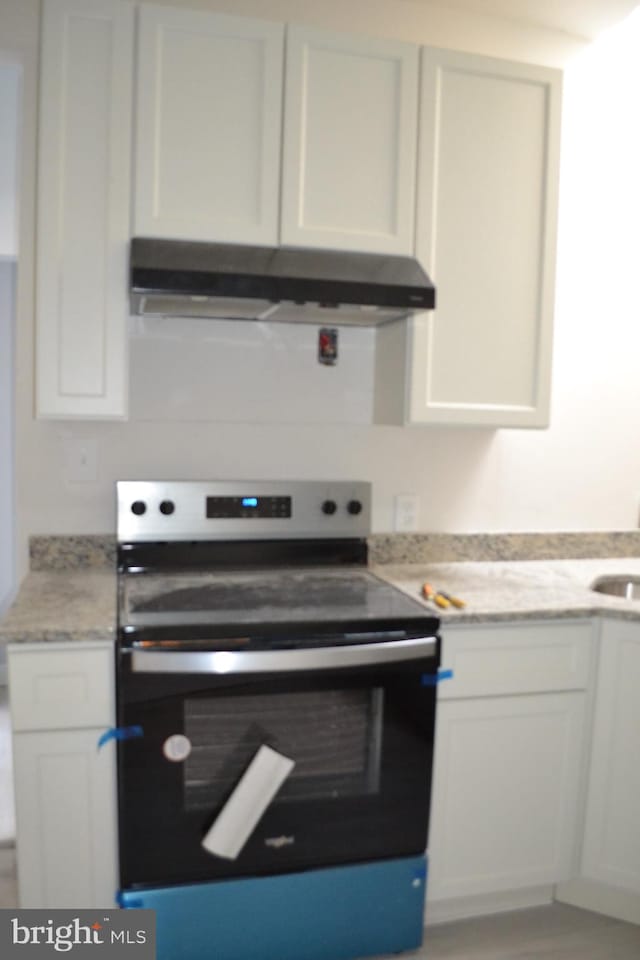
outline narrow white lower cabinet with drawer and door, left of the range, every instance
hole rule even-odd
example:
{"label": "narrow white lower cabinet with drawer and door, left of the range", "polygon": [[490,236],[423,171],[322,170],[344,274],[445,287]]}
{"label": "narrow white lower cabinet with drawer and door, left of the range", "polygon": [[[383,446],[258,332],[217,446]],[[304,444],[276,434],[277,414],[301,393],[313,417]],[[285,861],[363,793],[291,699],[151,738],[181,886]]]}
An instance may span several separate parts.
{"label": "narrow white lower cabinet with drawer and door, left of the range", "polygon": [[8,665],[20,906],[113,907],[113,647],[10,646]]}

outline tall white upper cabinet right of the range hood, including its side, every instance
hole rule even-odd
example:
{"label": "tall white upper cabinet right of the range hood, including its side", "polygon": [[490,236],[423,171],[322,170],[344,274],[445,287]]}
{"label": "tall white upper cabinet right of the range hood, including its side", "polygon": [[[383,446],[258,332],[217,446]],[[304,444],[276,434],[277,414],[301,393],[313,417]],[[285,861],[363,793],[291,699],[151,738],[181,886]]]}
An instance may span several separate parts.
{"label": "tall white upper cabinet right of the range hood, including its side", "polygon": [[548,426],[560,97],[558,71],[423,49],[416,255],[436,309],[379,331],[379,422]]}

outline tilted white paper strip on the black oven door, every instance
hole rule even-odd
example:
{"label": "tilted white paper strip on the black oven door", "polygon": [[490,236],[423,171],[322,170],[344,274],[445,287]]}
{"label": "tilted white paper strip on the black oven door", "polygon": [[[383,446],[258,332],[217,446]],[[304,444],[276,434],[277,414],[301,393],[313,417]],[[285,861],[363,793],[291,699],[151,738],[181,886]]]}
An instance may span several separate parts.
{"label": "tilted white paper strip on the black oven door", "polygon": [[295,761],[263,744],[202,840],[209,853],[235,860]]}

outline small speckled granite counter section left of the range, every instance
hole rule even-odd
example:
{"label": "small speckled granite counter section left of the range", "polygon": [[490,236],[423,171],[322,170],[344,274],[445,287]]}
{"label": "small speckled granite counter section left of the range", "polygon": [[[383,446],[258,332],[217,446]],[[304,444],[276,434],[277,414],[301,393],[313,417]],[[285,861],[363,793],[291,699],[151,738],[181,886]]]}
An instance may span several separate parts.
{"label": "small speckled granite counter section left of the range", "polygon": [[74,643],[116,635],[116,577],[95,570],[33,571],[0,622],[0,643]]}

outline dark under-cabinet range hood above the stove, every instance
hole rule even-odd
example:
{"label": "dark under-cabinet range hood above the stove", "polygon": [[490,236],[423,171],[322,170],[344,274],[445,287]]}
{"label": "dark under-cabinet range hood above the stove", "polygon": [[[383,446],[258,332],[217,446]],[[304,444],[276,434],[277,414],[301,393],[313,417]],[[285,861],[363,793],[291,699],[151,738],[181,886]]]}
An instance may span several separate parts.
{"label": "dark under-cabinet range hood above the stove", "polygon": [[131,241],[131,309],[139,315],[369,327],[434,306],[435,288],[410,257]]}

